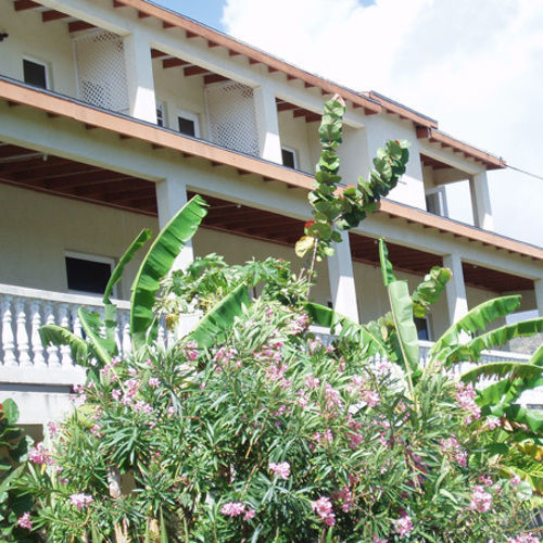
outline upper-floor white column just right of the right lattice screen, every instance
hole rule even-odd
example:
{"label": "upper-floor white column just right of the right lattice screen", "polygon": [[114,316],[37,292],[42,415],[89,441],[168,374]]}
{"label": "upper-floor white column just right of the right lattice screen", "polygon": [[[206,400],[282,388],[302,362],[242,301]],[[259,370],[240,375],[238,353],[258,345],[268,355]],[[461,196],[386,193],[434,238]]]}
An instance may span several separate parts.
{"label": "upper-floor white column just right of the right lattice screen", "polygon": [[254,89],[258,148],[263,159],[282,164],[281,139],[275,92],[267,86]]}

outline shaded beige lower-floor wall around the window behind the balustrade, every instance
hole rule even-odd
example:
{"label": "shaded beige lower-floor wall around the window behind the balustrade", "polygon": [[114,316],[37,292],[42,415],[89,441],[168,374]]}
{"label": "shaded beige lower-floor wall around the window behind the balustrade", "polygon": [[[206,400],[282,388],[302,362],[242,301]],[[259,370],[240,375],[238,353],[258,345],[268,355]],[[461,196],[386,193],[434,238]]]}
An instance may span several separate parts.
{"label": "shaded beige lower-floor wall around the window behind the balustrade", "polygon": [[[116,262],[142,228],[157,220],[136,213],[0,185],[0,282],[67,292],[65,251]],[[130,285],[142,254],[128,264],[118,296]]]}

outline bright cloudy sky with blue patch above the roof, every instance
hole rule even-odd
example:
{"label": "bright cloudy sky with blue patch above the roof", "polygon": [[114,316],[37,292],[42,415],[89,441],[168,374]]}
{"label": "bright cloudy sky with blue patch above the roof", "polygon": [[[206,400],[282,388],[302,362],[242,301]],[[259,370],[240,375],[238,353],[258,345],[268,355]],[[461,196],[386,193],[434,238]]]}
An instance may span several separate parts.
{"label": "bright cloudy sky with blue patch above the roof", "polygon": [[[355,90],[377,90],[455,138],[543,177],[543,1],[159,0]],[[543,180],[489,173],[498,232],[543,245]],[[466,184],[453,217],[469,220]]]}

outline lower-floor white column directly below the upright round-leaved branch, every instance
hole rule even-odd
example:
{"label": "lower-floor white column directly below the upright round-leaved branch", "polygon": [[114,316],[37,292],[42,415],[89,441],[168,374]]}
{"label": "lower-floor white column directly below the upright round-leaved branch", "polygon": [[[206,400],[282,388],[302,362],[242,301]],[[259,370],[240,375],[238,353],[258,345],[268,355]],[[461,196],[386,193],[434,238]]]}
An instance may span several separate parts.
{"label": "lower-floor white column directly below the upright round-leaved branch", "polygon": [[341,243],[334,243],[336,252],[328,258],[332,304],[334,311],[359,323],[349,235],[341,232],[341,237],[343,240]]}

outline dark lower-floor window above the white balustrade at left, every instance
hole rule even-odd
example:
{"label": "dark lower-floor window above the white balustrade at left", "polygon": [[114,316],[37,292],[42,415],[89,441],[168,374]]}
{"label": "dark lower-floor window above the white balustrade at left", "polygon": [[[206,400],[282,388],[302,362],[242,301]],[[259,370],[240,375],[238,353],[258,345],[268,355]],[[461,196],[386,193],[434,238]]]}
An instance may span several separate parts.
{"label": "dark lower-floor window above the white balustrade at left", "polygon": [[72,252],[65,253],[65,262],[68,290],[85,294],[102,294],[115,264],[106,256]]}

